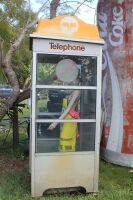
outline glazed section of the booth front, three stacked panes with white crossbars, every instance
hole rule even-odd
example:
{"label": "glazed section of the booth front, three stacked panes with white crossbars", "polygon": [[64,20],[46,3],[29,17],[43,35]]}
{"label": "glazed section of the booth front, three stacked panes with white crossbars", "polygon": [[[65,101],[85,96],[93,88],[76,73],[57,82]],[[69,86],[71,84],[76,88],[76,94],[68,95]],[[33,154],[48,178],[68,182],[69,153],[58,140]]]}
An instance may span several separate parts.
{"label": "glazed section of the booth front, three stacked panes with white crossbars", "polygon": [[[59,64],[66,66],[61,77]],[[95,151],[97,57],[37,54],[36,69],[36,153]],[[75,91],[76,105],[60,120]],[[54,122],[57,126],[49,130]]]}

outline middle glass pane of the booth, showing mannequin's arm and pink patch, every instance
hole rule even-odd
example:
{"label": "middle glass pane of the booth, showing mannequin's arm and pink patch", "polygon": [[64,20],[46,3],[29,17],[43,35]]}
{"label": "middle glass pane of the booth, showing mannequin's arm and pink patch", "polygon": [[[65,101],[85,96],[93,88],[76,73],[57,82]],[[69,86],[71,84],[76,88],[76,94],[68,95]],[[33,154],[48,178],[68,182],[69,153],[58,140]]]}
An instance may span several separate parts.
{"label": "middle glass pane of the booth, showing mannequin's arm and pink patch", "polygon": [[96,119],[96,90],[37,89],[36,100],[37,119]]}

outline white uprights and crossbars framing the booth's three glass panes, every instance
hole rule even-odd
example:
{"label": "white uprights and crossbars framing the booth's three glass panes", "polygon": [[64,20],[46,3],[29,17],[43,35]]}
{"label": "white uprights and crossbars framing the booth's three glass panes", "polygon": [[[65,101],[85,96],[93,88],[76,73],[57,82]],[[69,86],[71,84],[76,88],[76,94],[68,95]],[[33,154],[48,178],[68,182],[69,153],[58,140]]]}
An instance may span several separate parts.
{"label": "white uprights and crossbars framing the booth's three glass panes", "polygon": [[[34,39],[33,39],[34,43]],[[89,44],[90,48],[93,48],[93,44]],[[43,123],[43,122],[68,122],[69,120],[43,120],[43,119],[35,119],[36,117],[36,89],[37,88],[59,88],[59,89],[88,89],[88,90],[96,90],[96,120],[94,119],[79,119],[79,120],[70,120],[70,122],[96,122],[96,129],[95,129],[95,151],[85,151],[85,152],[69,152],[65,153],[65,155],[94,155],[94,186],[93,191],[98,191],[98,174],[99,174],[99,142],[100,142],[100,118],[101,118],[101,71],[102,71],[102,45],[98,44],[98,50],[95,54],[88,54],[87,56],[95,56],[97,57],[97,86],[51,86],[51,85],[36,85],[36,56],[37,54],[43,54],[43,52],[34,52],[33,49],[33,69],[32,69],[32,126],[31,126],[31,193],[32,196],[35,196],[35,157],[36,156],[52,156],[52,155],[61,155],[63,156],[64,153],[55,152],[55,153],[35,153],[35,126],[36,123]],[[46,53],[44,53],[46,54]],[[52,53],[54,54],[54,53]],[[60,55],[55,53],[56,55]],[[75,54],[64,54],[64,55],[75,55]],[[76,56],[83,56],[81,54],[77,54]],[[86,56],[86,55],[85,55]],[[89,169],[89,166],[88,166]]]}

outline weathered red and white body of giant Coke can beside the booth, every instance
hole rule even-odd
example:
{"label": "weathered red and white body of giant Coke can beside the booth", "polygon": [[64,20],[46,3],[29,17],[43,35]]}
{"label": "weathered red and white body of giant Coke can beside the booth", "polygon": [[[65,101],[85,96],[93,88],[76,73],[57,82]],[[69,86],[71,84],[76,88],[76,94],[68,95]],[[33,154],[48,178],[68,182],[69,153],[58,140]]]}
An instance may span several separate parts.
{"label": "weathered red and white body of giant Coke can beside the booth", "polygon": [[103,49],[102,148],[133,154],[133,1],[99,0]]}

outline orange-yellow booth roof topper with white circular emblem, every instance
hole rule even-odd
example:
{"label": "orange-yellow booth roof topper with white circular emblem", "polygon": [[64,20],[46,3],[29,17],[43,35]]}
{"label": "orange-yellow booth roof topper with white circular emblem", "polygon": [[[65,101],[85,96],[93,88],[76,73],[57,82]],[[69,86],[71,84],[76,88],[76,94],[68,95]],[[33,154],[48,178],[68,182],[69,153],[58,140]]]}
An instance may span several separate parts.
{"label": "orange-yellow booth roof topper with white circular emblem", "polygon": [[104,43],[96,25],[87,24],[75,16],[41,19],[31,37]]}

